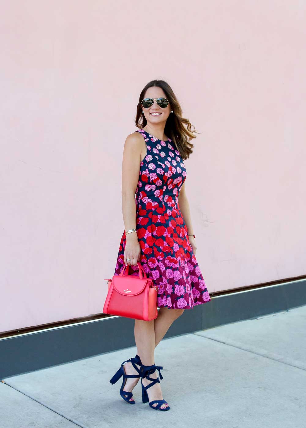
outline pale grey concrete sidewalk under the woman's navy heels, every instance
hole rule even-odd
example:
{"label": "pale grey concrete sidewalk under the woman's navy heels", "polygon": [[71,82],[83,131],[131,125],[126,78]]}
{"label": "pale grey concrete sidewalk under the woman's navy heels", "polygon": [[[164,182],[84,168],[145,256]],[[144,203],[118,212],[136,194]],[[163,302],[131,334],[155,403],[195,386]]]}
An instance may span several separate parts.
{"label": "pale grey concrete sidewalk under the woman's navy heels", "polygon": [[[184,315],[182,315],[183,317]],[[0,383],[1,428],[306,428],[306,306],[164,339],[163,396],[153,410],[109,383],[136,348],[101,354]]]}

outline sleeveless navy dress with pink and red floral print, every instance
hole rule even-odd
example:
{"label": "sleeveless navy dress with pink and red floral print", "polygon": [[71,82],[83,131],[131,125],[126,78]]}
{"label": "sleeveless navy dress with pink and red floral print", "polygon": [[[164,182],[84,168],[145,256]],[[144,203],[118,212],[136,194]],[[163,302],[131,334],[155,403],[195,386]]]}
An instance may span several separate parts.
{"label": "sleeveless navy dress with pink and red floral print", "polygon": [[[135,132],[140,132],[147,143],[135,192],[140,263],[147,277],[159,287],[158,307],[192,309],[209,302],[210,295],[189,243],[178,202],[186,168],[170,138],[162,141],[143,129]],[[119,275],[125,266],[125,246],[124,230],[114,275]],[[129,272],[138,276],[138,267],[130,266]]]}

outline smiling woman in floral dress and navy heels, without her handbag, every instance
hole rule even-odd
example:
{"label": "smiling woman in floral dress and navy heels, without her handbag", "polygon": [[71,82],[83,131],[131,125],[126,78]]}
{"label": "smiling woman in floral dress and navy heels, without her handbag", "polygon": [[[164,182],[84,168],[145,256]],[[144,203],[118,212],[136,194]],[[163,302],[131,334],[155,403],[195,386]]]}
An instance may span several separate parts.
{"label": "smiling woman in floral dress and navy heels, without her handbag", "polygon": [[192,153],[193,144],[187,138],[195,138],[195,131],[182,117],[177,98],[165,81],[149,82],[139,101],[135,120],[139,129],[126,138],[123,149],[125,230],[114,274],[129,265],[127,269],[138,276],[140,262],[159,288],[160,309],[155,320],[135,320],[138,354],[123,361],[110,382],[117,382],[124,373],[120,395],[135,404],[132,389],[141,377],[143,402],[166,411],[170,406],[162,397],[157,375],[158,371],[162,379],[162,367],[154,363],[154,349],[185,309],[209,302],[210,295],[195,259],[195,235],[185,191],[183,159]]}

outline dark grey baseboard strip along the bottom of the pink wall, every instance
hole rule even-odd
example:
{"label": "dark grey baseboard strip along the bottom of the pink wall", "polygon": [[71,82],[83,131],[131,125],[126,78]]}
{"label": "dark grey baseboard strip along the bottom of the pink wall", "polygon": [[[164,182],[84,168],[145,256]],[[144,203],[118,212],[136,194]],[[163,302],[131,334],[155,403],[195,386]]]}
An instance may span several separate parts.
{"label": "dark grey baseboard strip along the bottom of the pink wall", "polygon": [[[231,292],[186,309],[165,338],[303,305],[306,305],[306,279]],[[112,316],[3,338],[0,380],[129,346],[135,346],[134,320]]]}

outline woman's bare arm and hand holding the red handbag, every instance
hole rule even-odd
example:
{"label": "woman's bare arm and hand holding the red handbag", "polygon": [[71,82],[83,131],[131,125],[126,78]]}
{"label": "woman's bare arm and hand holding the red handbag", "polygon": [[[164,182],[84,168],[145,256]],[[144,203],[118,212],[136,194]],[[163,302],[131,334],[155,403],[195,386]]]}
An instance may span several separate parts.
{"label": "woman's bare arm and hand holding the red handbag", "polygon": [[[141,137],[142,138],[142,137]],[[125,230],[136,229],[135,191],[139,180],[141,161],[141,140],[138,135],[126,137],[122,159],[122,214]],[[130,258],[130,261],[126,261]],[[140,245],[136,232],[126,235],[124,262],[126,265],[137,265],[140,259]]]}

